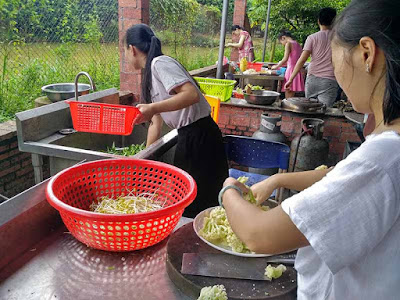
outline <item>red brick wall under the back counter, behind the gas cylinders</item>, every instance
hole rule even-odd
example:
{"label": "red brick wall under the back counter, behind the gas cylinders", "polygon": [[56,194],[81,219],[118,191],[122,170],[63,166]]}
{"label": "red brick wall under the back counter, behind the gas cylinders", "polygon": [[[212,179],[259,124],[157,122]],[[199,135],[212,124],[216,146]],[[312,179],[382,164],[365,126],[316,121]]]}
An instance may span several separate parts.
{"label": "red brick wall under the back counter, behind the gas cylinders", "polygon": [[[260,127],[262,113],[282,116],[281,131],[288,138],[288,142],[301,133],[301,120],[307,117],[286,111],[266,111],[222,104],[218,125],[224,134],[252,136]],[[324,138],[329,142],[329,161],[331,164],[335,164],[343,156],[346,141],[359,142],[360,139],[353,123],[344,117],[323,116],[317,118],[325,121]]]}

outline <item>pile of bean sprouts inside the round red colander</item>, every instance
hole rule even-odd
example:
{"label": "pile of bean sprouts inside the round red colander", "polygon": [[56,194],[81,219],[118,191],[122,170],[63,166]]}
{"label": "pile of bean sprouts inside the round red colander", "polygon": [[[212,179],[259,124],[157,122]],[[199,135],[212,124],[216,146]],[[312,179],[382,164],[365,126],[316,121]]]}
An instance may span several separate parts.
{"label": "pile of bean sprouts inside the round red colander", "polygon": [[119,196],[117,199],[102,197],[101,201],[90,205],[90,210],[103,214],[137,214],[159,210],[164,204],[157,194],[142,193],[136,196],[131,191],[127,196]]}

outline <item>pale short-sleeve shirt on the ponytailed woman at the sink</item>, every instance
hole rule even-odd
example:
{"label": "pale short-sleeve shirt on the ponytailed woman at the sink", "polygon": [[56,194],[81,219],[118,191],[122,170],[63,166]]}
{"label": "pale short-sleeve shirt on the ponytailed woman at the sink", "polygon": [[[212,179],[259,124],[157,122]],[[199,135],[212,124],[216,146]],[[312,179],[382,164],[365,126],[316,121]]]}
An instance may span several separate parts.
{"label": "pale short-sleeve shirt on the ponytailed woman at the sink", "polygon": [[200,101],[180,110],[161,113],[164,122],[171,128],[179,129],[207,117],[211,113],[210,105],[197,88],[192,76],[172,57],[162,55],[151,62],[152,90],[151,101],[160,102],[171,98],[174,89],[186,82],[196,86]]}

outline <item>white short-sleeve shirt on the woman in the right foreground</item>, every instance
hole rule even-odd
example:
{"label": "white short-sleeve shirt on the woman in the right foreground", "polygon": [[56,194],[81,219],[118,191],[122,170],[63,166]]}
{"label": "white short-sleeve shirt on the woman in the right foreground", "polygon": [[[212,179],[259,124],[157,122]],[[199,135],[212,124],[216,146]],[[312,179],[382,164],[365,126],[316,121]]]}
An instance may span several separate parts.
{"label": "white short-sleeve shirt on the woman in the right foreground", "polygon": [[400,299],[400,136],[371,135],[321,181],[282,203],[310,246],[298,299]]}

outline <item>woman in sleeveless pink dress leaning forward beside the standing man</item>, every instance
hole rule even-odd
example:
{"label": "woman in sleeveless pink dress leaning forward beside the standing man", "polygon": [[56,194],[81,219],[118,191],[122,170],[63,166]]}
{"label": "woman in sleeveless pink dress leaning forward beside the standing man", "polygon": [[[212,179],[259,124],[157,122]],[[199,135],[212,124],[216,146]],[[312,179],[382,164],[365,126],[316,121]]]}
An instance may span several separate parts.
{"label": "woman in sleeveless pink dress leaning forward beside the standing man", "polygon": [[294,97],[296,92],[304,92],[304,80],[301,73],[298,73],[293,78],[292,85],[289,88],[285,89],[285,83],[292,75],[293,69],[296,66],[297,61],[299,60],[303,49],[301,48],[299,43],[293,39],[292,34],[289,31],[282,31],[278,35],[278,40],[282,45],[285,46],[285,55],[277,65],[272,67],[272,69],[279,69],[280,67],[287,64],[285,81],[282,87],[282,91],[285,92],[285,98],[287,99]]}

